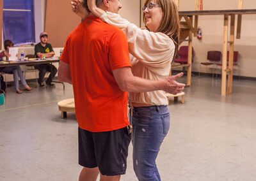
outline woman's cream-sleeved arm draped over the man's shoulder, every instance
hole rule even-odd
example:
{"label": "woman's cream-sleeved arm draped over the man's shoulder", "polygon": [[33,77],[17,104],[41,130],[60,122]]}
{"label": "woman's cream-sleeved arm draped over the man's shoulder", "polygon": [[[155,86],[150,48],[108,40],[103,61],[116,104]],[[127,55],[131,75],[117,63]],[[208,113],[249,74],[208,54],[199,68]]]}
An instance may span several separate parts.
{"label": "woman's cream-sleeved arm draped over the man's shoulder", "polygon": [[175,44],[166,34],[142,30],[118,14],[98,8],[95,0],[87,0],[87,4],[95,16],[124,32],[129,43],[129,52],[136,59],[154,68],[164,68],[170,64],[175,52]]}

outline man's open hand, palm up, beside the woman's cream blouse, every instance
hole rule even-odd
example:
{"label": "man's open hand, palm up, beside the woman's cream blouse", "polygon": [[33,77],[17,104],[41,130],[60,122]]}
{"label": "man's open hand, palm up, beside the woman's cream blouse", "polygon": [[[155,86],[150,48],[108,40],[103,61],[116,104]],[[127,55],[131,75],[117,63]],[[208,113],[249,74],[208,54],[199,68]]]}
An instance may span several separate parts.
{"label": "man's open hand, palm up, beside the woman's cream blouse", "polygon": [[177,75],[173,75],[173,76],[169,76],[168,78],[165,78],[164,82],[166,82],[166,87],[164,88],[164,91],[174,95],[182,92],[185,87],[185,84],[179,83],[176,81],[177,78],[180,78],[182,76],[183,76],[183,73],[179,73]]}

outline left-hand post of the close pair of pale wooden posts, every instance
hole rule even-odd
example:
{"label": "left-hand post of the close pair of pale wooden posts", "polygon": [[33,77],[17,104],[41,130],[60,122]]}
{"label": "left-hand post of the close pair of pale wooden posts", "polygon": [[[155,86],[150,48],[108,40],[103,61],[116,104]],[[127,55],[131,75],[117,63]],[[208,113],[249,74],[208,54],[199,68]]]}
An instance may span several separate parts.
{"label": "left-hand post of the close pair of pale wooden posts", "polygon": [[228,46],[228,15],[224,15],[221,95],[226,96],[227,90],[227,46]]}

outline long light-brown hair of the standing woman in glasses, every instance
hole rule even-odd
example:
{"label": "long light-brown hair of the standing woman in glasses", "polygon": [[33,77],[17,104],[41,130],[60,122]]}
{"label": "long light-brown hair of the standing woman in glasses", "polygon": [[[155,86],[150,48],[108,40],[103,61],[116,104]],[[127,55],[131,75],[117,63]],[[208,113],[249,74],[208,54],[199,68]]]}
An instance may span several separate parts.
{"label": "long light-brown hair of the standing woman in glasses", "polygon": [[[149,2],[150,0],[147,0],[145,2],[145,5],[147,5]],[[179,34],[180,34],[179,11],[173,0],[156,0],[156,3],[163,10],[163,18],[157,29],[157,32],[166,34],[175,43],[175,54],[173,56],[173,60],[174,60],[179,48]],[[145,13],[143,14],[143,20],[145,22]]]}

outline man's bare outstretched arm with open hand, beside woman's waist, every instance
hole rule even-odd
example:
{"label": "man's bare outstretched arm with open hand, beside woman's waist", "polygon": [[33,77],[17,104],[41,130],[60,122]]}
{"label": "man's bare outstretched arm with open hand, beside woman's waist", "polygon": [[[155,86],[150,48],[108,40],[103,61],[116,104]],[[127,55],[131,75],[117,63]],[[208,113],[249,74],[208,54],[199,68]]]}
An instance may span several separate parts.
{"label": "man's bare outstretched arm with open hand, beside woman's waist", "polygon": [[127,92],[151,92],[163,90],[171,94],[182,92],[185,84],[176,82],[183,73],[175,76],[170,76],[163,80],[147,80],[138,76],[132,75],[131,68],[119,68],[113,71],[116,83],[122,91]]}

